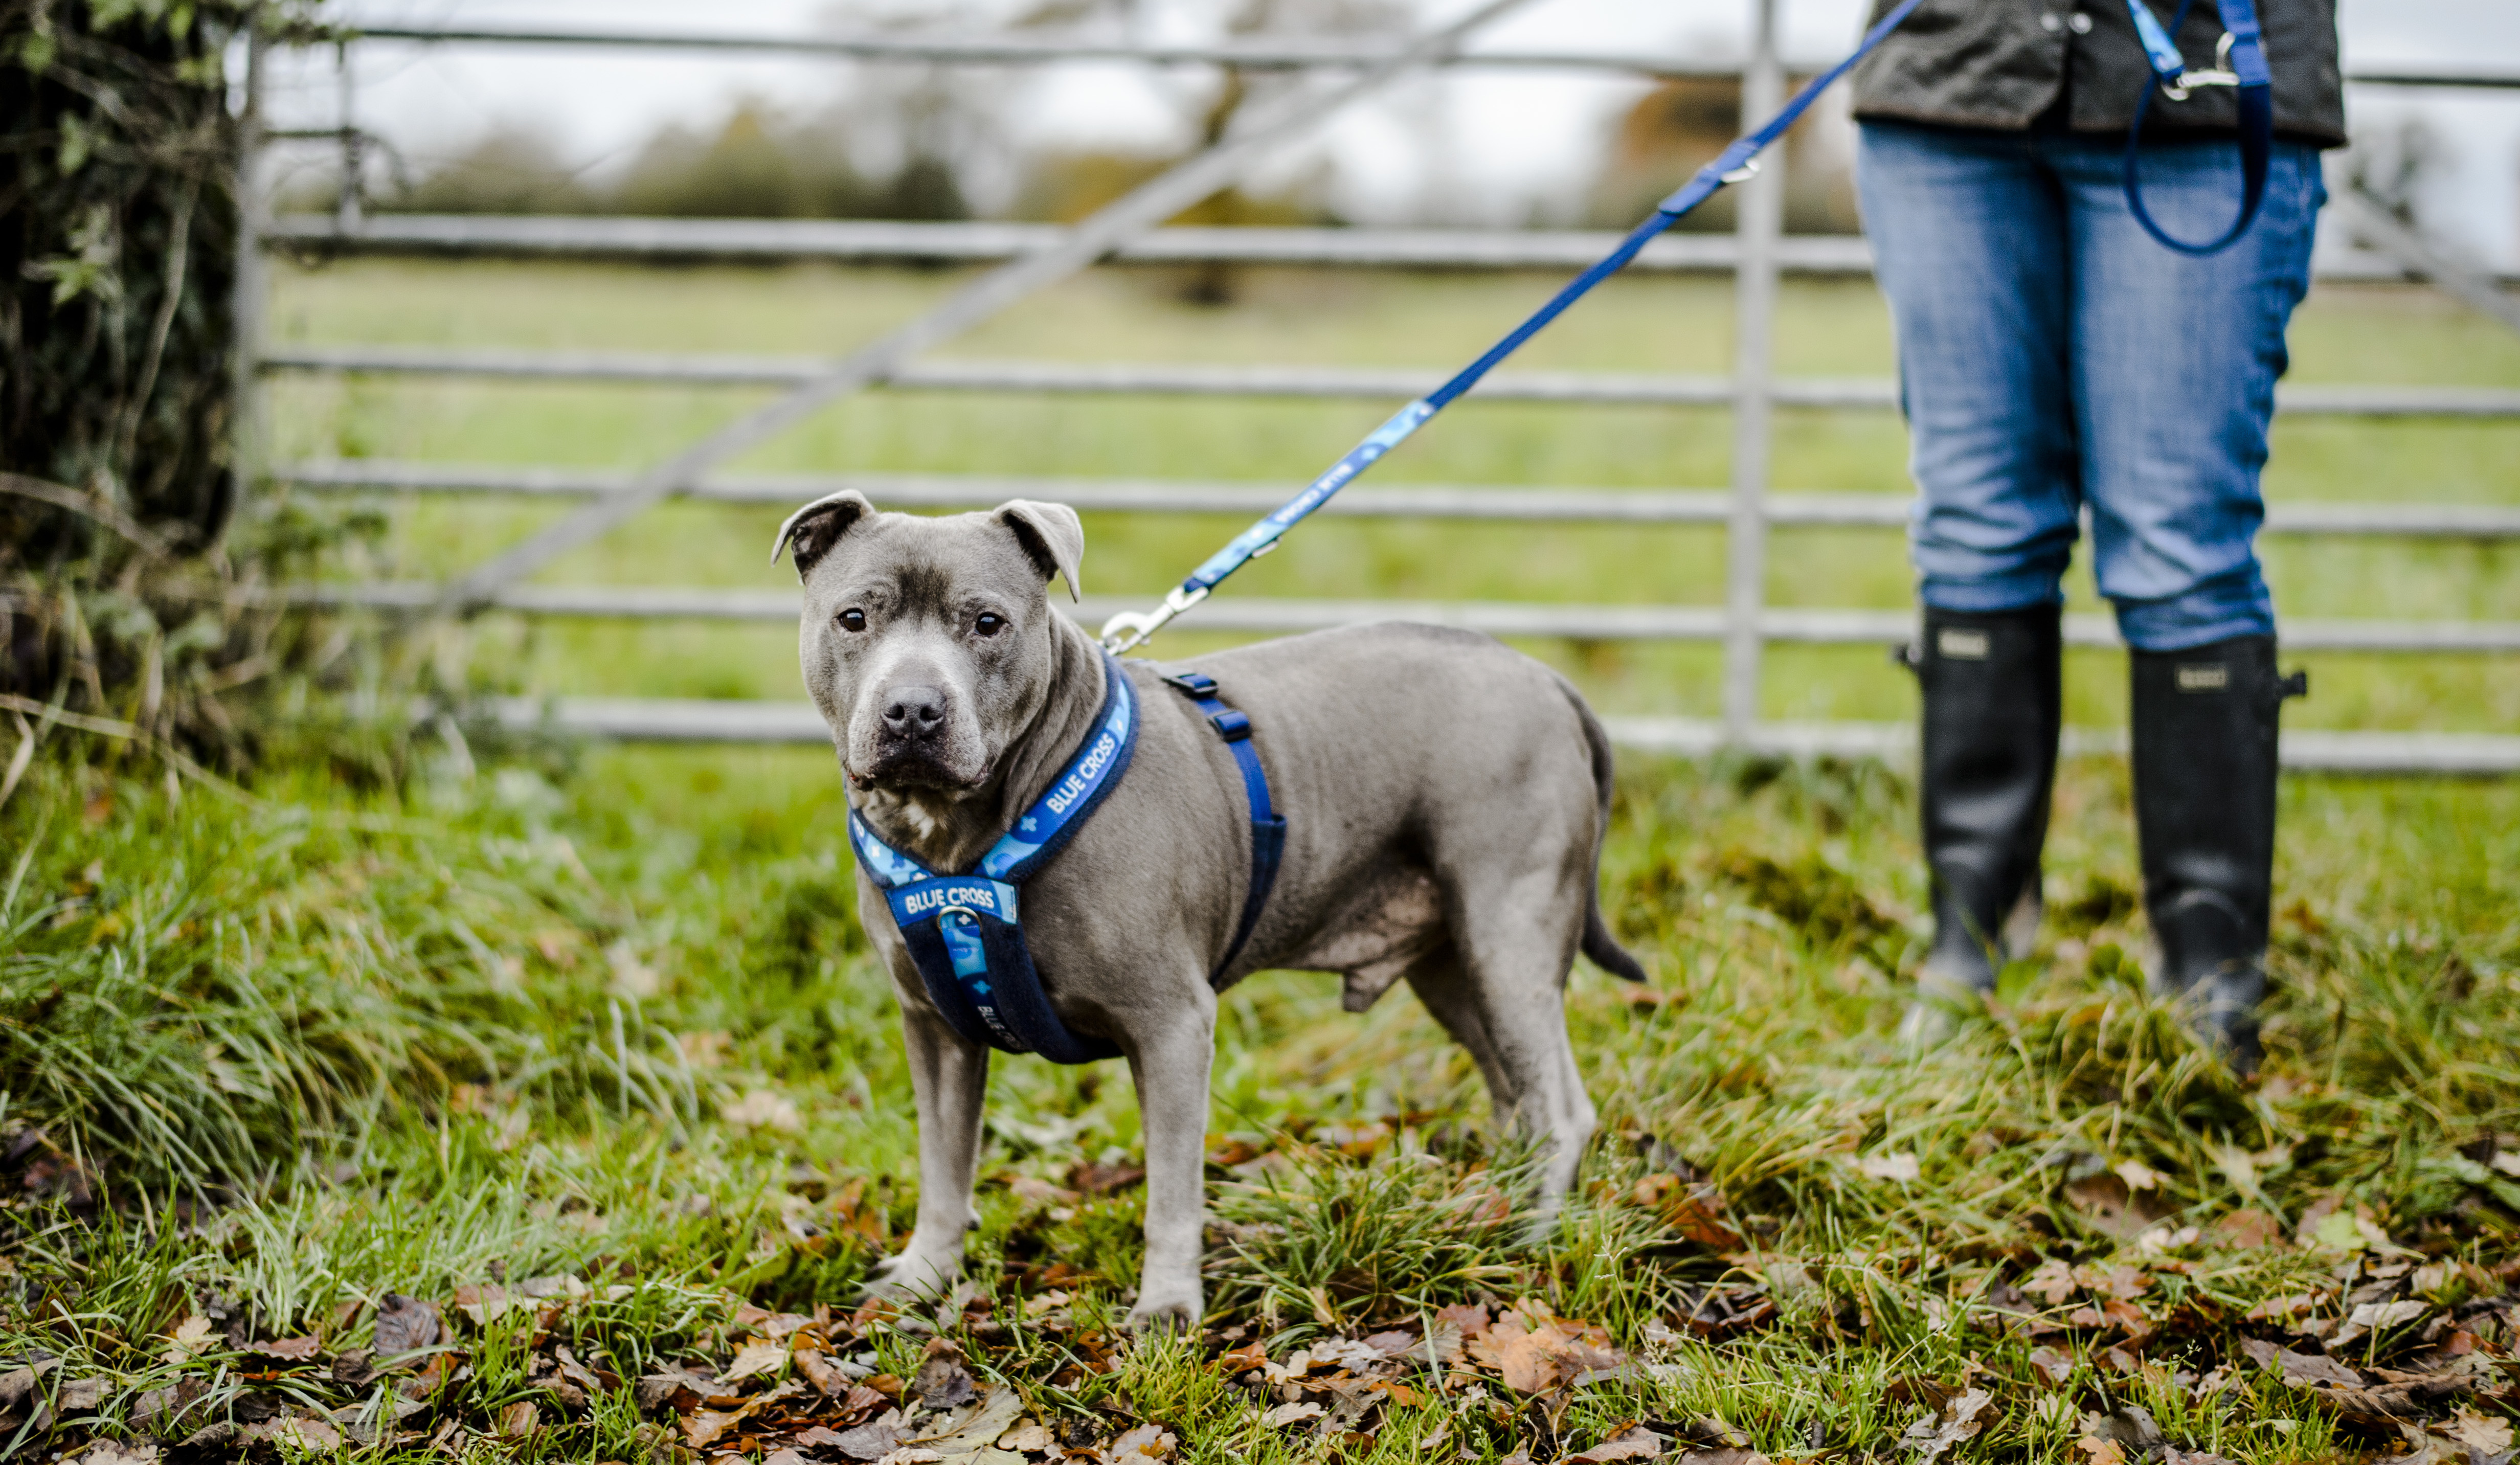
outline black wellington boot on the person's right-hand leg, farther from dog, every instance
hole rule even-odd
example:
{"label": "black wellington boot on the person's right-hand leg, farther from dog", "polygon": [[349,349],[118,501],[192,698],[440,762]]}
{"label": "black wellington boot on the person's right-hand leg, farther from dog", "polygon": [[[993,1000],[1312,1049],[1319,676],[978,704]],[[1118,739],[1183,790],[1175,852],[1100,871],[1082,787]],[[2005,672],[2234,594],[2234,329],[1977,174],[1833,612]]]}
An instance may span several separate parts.
{"label": "black wellington boot on the person's right-hand leg, farther from dog", "polygon": [[2129,661],[2134,832],[2162,948],[2152,988],[2185,999],[2197,1034],[2248,1074],[2276,883],[2276,719],[2308,678],[2276,673],[2273,635]]}

